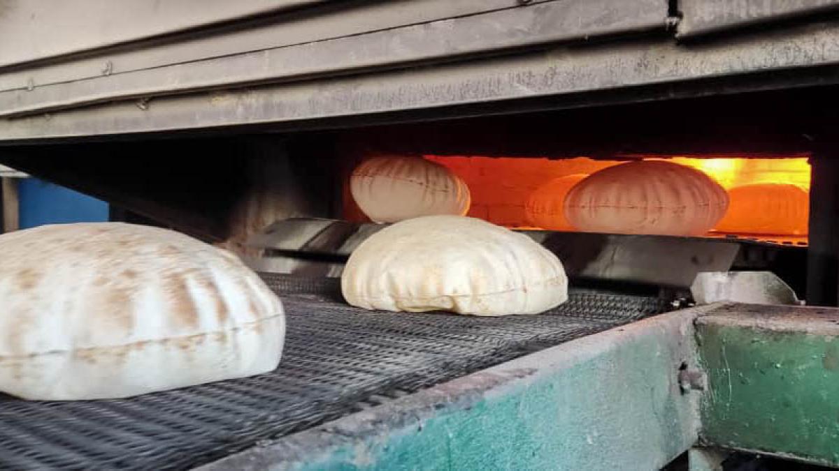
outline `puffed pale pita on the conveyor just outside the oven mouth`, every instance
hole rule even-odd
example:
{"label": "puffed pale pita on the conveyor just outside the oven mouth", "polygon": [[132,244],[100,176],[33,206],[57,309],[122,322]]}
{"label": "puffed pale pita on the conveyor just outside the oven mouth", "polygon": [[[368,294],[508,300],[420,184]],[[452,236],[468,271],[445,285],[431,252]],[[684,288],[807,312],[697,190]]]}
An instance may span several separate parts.
{"label": "puffed pale pita on the conveyor just outside the oven mouth", "polygon": [[527,235],[461,216],[405,220],[371,235],[341,275],[347,303],[477,316],[542,313],[568,298],[556,256]]}

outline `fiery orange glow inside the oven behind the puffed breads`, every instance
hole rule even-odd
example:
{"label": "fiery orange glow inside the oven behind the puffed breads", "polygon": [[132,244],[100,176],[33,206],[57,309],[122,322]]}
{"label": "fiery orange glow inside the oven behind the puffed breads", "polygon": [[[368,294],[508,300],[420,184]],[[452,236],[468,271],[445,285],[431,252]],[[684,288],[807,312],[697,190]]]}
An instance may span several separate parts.
{"label": "fiery orange glow inside the oven behind the puffed breads", "polygon": [[[659,159],[656,156],[631,156]],[[591,158],[489,158],[426,155],[468,184],[468,215],[511,228],[537,228],[526,215],[530,194],[552,179],[591,174],[623,161]],[[810,164],[806,156],[789,158],[667,157],[696,168],[721,184],[729,209],[708,236],[742,236],[804,245],[809,212]],[[562,185],[558,185],[558,188]]]}

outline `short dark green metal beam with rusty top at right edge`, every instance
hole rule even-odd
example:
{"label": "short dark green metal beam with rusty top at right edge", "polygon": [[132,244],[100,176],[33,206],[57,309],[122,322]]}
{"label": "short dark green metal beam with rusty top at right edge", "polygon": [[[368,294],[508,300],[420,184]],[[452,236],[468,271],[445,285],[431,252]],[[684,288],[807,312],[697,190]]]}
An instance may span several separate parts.
{"label": "short dark green metal beam with rusty top at right edge", "polygon": [[735,305],[700,318],[703,441],[839,466],[837,313]]}

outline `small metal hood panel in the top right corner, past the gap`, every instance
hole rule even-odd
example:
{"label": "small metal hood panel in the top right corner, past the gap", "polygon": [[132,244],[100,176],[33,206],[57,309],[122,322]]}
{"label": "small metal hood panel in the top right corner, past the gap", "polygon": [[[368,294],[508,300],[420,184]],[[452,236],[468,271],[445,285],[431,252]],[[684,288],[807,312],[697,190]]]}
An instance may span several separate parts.
{"label": "small metal hood panel in the top right corner, past the gap", "polygon": [[839,8],[836,0],[680,0],[680,37],[715,33]]}

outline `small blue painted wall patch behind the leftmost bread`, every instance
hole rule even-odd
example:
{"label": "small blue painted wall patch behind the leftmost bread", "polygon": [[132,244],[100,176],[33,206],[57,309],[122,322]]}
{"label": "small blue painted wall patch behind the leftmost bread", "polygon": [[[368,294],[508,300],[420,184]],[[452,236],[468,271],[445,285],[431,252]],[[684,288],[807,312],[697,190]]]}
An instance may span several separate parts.
{"label": "small blue painted wall patch behind the leftmost bread", "polygon": [[39,179],[20,179],[20,228],[68,222],[104,222],[108,204]]}

